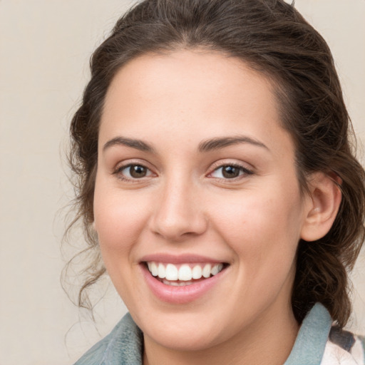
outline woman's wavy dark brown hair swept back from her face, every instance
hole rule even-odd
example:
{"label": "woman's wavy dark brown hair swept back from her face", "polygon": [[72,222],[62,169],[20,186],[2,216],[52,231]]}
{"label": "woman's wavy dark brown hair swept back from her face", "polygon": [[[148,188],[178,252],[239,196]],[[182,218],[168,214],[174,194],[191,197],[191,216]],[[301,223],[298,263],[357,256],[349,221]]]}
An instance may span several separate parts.
{"label": "woman's wavy dark brown hair swept back from her face", "polygon": [[351,151],[351,123],[327,43],[282,0],[145,0],[115,24],[91,58],[91,81],[71,123],[70,163],[76,173],[76,220],[83,221],[88,248],[78,304],[105,272],[91,230],[97,169],[98,128],[106,91],[120,67],[147,52],[206,48],[235,56],[277,86],[284,128],[296,145],[299,182],[323,171],[341,178],[342,201],[329,233],[299,242],[292,308],[298,322],[315,302],[339,326],[351,313],[348,271],[364,240],[365,175]]}

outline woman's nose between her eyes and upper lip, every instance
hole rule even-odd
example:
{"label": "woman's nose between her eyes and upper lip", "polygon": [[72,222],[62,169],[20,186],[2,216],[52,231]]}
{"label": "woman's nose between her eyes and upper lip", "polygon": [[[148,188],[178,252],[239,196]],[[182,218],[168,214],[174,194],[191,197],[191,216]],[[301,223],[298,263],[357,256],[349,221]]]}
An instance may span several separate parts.
{"label": "woman's nose between her eyes and upper lip", "polygon": [[207,230],[207,217],[192,183],[166,182],[156,197],[151,229],[166,240],[179,242],[202,235]]}

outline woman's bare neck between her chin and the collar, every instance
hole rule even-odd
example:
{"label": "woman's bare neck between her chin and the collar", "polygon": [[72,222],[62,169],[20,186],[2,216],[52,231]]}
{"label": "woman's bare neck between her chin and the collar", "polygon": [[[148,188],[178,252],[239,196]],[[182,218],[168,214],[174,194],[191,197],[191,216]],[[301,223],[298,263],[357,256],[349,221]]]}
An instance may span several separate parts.
{"label": "woman's bare neck between her chin and the collar", "polygon": [[240,333],[207,349],[168,349],[145,336],[143,365],[282,365],[292,350],[298,330],[291,305],[283,307],[279,303]]}

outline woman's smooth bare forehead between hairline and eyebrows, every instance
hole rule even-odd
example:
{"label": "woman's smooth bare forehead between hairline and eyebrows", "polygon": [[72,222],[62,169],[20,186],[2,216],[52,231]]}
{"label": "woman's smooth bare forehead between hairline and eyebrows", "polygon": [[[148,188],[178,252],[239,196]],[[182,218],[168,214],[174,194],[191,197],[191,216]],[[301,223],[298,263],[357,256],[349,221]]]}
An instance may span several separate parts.
{"label": "woman's smooth bare forehead between hairline and eyebrows", "polygon": [[175,138],[245,133],[269,144],[279,142],[288,135],[273,88],[269,78],[222,53],[182,50],[140,56],[120,68],[110,84],[100,139],[113,138],[113,133],[157,138],[163,128]]}

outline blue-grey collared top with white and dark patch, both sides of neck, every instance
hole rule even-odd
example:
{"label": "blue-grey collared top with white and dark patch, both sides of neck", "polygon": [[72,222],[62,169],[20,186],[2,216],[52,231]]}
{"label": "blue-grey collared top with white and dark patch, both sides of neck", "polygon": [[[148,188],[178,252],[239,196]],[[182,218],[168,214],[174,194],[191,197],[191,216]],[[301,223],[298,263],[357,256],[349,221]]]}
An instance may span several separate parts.
{"label": "blue-grey collared top with white and dark patch, both sides of neck", "polygon": [[[304,318],[284,365],[364,365],[364,338],[332,326],[329,312],[315,304]],[[142,365],[143,333],[130,314],[74,365]]]}

